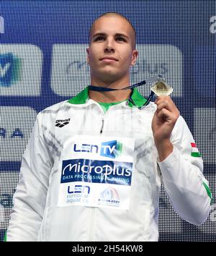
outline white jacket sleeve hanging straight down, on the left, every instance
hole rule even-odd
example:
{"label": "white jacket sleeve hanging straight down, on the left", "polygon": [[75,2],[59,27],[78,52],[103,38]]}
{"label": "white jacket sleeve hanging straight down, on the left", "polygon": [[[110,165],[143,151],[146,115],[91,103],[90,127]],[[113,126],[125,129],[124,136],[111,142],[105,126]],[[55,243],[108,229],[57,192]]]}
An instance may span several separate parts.
{"label": "white jacket sleeve hanging straight down, on the left", "polygon": [[42,135],[40,114],[22,156],[19,183],[13,205],[6,241],[36,241],[45,209],[52,157]]}

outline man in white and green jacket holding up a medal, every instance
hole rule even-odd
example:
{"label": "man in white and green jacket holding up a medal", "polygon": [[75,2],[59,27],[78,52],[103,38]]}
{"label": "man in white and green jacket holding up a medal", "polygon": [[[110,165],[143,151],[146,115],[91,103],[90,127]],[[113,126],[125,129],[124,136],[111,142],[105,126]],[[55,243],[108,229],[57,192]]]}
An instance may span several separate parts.
{"label": "man in white and green jacket holding up a medal", "polygon": [[[126,87],[137,58],[125,17],[94,22],[91,85]],[[181,218],[204,222],[211,194],[193,137],[170,97],[138,108],[145,101],[136,89],[86,88],[38,114],[8,241],[157,241],[161,183]]]}

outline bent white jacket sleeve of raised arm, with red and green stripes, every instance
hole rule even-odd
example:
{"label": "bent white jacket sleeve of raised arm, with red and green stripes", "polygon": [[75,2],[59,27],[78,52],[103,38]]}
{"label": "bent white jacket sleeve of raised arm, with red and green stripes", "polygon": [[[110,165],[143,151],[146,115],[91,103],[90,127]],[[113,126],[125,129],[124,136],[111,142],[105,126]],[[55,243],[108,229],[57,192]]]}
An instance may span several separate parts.
{"label": "bent white jacket sleeve of raised arm, with red and green stripes", "polygon": [[202,224],[210,213],[212,195],[204,179],[199,152],[192,153],[194,138],[179,116],[171,135],[173,152],[158,166],[163,187],[176,213],[194,225]]}

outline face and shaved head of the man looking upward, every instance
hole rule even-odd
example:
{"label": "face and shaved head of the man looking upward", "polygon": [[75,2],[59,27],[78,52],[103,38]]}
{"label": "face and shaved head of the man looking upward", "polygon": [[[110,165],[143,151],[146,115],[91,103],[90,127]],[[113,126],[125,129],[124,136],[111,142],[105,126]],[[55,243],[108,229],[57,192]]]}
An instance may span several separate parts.
{"label": "face and shaved head of the man looking upward", "polygon": [[87,48],[91,81],[129,80],[130,66],[138,51],[132,49],[132,27],[122,17],[101,17],[96,20]]}

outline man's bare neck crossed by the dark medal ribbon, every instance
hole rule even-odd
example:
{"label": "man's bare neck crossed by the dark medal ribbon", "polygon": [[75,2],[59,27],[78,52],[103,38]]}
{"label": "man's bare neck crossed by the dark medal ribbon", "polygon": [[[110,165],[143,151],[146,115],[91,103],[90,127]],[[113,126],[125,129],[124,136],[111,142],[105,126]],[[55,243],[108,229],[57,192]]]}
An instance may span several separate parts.
{"label": "man's bare neck crossed by the dark medal ribbon", "polygon": [[[117,81],[104,81],[91,78],[91,85],[120,89],[130,85],[129,79],[117,80]],[[118,101],[125,101],[129,98],[131,90],[114,90],[109,92],[99,92],[95,90],[89,90],[89,98],[97,102],[112,103]]]}

